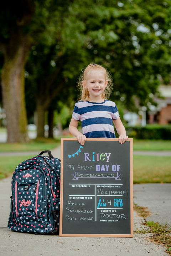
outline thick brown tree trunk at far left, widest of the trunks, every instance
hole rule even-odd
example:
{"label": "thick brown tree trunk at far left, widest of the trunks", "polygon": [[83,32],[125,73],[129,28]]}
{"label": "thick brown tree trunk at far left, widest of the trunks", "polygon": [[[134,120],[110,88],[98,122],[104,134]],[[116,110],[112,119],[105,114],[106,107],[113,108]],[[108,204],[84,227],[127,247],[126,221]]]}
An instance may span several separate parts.
{"label": "thick brown tree trunk at far left, widest of the trunks", "polygon": [[28,37],[15,34],[4,45],[2,98],[6,112],[7,142],[28,142],[24,94],[24,66],[30,47]]}

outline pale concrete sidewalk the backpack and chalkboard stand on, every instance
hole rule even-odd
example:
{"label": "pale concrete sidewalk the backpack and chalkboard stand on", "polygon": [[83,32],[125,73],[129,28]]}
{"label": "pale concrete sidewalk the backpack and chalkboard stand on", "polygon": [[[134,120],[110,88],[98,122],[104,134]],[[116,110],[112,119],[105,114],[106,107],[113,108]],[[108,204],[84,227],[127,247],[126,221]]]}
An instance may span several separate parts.
{"label": "pale concrete sidewalk the backpack and chalkboard stand on", "polygon": [[[145,185],[151,186],[151,184]],[[138,186],[136,185],[136,190]],[[142,189],[141,186],[142,184],[140,184],[140,190]],[[153,189],[153,192],[156,193],[156,190]],[[11,178],[0,181],[0,195],[0,226],[2,227],[7,225],[10,213]],[[134,212],[134,224],[136,227],[139,228],[141,222],[142,218]],[[153,244],[148,239],[150,235],[134,234],[133,238],[59,237],[58,235],[36,236],[34,234],[12,232],[10,229],[0,229],[0,255],[122,256],[126,254],[129,256],[144,256],[147,253],[152,256],[168,255],[164,252],[165,247]]]}

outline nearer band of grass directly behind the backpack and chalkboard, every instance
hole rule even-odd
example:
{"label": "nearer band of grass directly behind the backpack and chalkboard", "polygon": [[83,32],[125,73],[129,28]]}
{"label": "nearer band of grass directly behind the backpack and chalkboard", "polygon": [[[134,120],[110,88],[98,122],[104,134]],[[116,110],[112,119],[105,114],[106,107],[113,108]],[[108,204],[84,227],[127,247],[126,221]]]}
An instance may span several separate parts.
{"label": "nearer band of grass directly behind the backpack and chalkboard", "polygon": [[[0,179],[12,173],[18,164],[33,155],[0,157]],[[171,157],[133,156],[134,183],[171,183]]]}

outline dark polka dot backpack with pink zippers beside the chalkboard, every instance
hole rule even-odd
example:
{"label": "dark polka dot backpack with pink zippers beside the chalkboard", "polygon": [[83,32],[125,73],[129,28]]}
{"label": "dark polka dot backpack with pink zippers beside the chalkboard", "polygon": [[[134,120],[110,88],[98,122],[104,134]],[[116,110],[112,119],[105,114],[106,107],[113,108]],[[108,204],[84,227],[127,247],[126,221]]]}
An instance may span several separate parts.
{"label": "dark polka dot backpack with pink zippers beside the chalkboard", "polygon": [[[47,152],[49,157],[42,154]],[[60,160],[50,150],[20,163],[12,176],[11,213],[13,231],[58,234],[60,206]]]}

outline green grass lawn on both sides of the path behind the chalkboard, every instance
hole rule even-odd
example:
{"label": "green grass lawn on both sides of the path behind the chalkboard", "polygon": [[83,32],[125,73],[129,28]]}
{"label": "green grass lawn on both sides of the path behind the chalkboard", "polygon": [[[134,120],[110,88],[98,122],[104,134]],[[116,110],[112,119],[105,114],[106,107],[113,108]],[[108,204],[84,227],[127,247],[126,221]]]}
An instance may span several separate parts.
{"label": "green grass lawn on both sides of the path behind the chalkboard", "polygon": [[[0,143],[0,152],[51,150],[60,145],[60,138],[36,139],[30,143]],[[171,150],[170,140],[133,140],[134,150]],[[33,155],[0,157],[0,179],[12,176],[16,166]],[[134,183],[171,183],[171,157],[133,156]]]}

